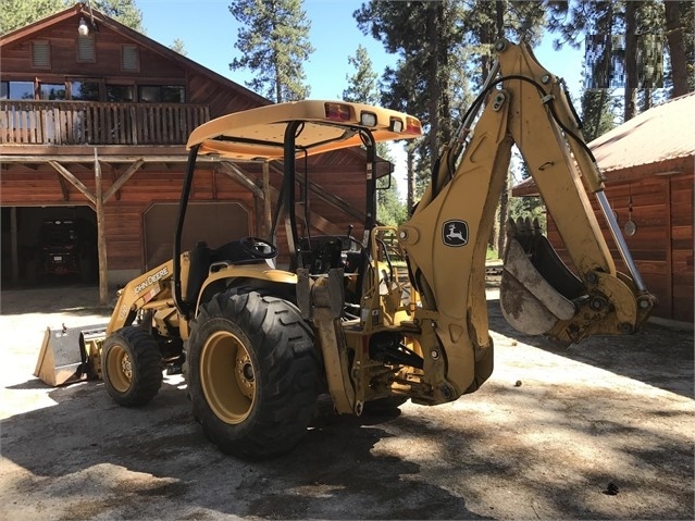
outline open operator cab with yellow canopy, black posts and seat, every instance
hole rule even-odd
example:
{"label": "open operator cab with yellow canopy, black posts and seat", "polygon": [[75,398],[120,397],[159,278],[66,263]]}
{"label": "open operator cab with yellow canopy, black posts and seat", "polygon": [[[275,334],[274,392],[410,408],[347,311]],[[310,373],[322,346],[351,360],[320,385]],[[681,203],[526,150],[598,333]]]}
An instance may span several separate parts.
{"label": "open operator cab with yellow canopy, black posts and seat", "polygon": [[[370,260],[369,234],[376,225],[376,173],[380,160],[377,142],[412,139],[422,135],[420,121],[401,112],[361,103],[343,101],[305,100],[261,107],[245,112],[228,114],[194,131],[188,139],[189,161],[182,191],[179,216],[174,249],[174,298],[183,314],[194,311],[193,295],[182,293],[182,266],[179,256],[181,235],[186,206],[193,186],[196,164],[201,157],[215,157],[239,162],[282,162],[283,184],[275,202],[270,237],[252,238],[259,257],[264,251],[276,252],[275,245],[281,226],[287,243],[288,271],[307,270],[310,276],[327,274],[340,269],[346,277],[346,299],[359,303],[358,287],[362,282]],[[298,218],[297,208],[306,201],[297,201],[296,194],[308,179],[297,174],[297,160],[333,150],[362,147],[365,150],[367,168],[364,238],[352,236],[352,226],[344,235],[313,235],[308,212]],[[389,172],[390,174],[390,172]],[[249,249],[247,248],[247,252]],[[359,282],[358,282],[359,280]],[[189,291],[186,291],[189,293]]]}

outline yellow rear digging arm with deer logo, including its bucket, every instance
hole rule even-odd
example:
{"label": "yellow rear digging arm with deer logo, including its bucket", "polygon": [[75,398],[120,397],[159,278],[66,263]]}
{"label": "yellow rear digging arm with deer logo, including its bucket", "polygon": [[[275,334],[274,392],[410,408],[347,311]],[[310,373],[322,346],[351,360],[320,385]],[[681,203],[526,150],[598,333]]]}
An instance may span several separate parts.
{"label": "yellow rear digging arm with deer logo, including its bucket", "polygon": [[524,45],[500,40],[495,50],[494,77],[479,97],[487,102],[472,137],[464,146],[471,132],[464,124],[445,147],[433,183],[399,228],[412,282],[422,296],[415,322],[423,340],[432,343],[422,346],[425,372],[442,374],[435,379],[435,399],[473,392],[492,373],[485,256],[514,144],[576,275],[530,223],[510,226],[500,303],[511,325],[579,342],[589,334],[632,333],[656,303],[617,224],[609,222],[631,274],[616,271],[587,195],[605,200],[601,176],[561,82]]}

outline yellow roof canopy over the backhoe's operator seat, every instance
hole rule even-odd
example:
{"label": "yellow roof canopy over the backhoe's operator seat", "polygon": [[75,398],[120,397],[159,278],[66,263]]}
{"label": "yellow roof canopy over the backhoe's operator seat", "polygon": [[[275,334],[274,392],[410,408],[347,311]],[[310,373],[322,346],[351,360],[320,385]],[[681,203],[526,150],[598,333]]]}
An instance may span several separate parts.
{"label": "yellow roof canopy over the backhoe's operator seat", "polygon": [[417,117],[389,109],[345,101],[303,100],[260,107],[218,117],[196,128],[187,148],[236,161],[270,161],[284,156],[289,122],[301,122],[297,154],[318,154],[362,145],[360,131],[375,142],[422,136]]}

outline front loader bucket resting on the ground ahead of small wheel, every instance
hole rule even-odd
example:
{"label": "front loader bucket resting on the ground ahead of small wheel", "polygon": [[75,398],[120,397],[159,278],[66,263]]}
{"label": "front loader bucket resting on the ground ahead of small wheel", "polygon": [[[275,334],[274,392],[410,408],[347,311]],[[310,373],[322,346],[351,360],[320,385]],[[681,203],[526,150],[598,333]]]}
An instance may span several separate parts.
{"label": "front loader bucket resting on the ground ahead of small wheel", "polygon": [[88,368],[85,340],[103,337],[104,332],[104,324],[79,328],[47,327],[34,376],[52,387],[86,380],[90,374],[90,368]]}

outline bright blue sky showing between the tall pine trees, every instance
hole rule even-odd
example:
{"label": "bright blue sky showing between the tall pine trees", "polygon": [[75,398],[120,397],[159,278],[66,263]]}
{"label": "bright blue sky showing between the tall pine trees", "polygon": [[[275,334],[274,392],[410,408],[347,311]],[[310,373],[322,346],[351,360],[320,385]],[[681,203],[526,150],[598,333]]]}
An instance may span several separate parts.
{"label": "bright blue sky showing between the tall pine trees", "polygon": [[[311,42],[314,52],[305,65],[311,98],[336,99],[347,87],[346,76],[353,69],[348,57],[358,45],[370,51],[374,71],[394,64],[396,58],[387,54],[381,42],[364,36],[352,13],[362,1],[305,0],[303,8],[311,21]],[[147,36],[171,46],[175,38],[184,41],[187,57],[201,65],[241,85],[251,73],[229,71],[229,62],[238,55],[234,47],[238,24],[229,13],[229,0],[138,0]],[[564,77],[574,99],[579,99],[582,72],[582,52],[569,48],[553,50],[551,37],[535,49],[538,61],[551,73]]]}

